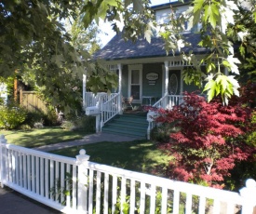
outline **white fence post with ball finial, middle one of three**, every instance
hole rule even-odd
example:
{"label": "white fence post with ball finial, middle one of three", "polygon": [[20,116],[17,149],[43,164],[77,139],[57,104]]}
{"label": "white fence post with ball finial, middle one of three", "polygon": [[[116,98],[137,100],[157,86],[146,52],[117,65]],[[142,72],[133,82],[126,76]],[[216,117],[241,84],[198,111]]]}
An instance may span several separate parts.
{"label": "white fence post with ball finial, middle one of three", "polygon": [[89,155],[84,149],[79,151],[76,155],[76,164],[78,167],[78,195],[77,195],[77,209],[81,213],[88,212],[88,168],[84,164],[88,162]]}

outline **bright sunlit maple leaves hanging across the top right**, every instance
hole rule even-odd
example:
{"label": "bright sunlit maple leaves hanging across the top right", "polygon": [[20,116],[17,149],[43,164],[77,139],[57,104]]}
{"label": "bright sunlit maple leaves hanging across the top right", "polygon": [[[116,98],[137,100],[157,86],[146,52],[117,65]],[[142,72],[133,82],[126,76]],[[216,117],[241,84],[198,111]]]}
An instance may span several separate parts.
{"label": "bright sunlit maple leaves hanging across the top right", "polygon": [[[189,45],[182,36],[184,21],[190,20],[193,26],[200,22],[202,27],[199,46],[207,47],[210,54],[198,62],[193,52],[187,56],[181,52],[183,60],[188,60],[194,65],[193,73],[186,73],[184,79],[187,82],[193,79],[198,86],[202,86],[201,81],[206,80],[204,91],[208,91],[208,100],[221,95],[223,103],[227,104],[233,94],[239,95],[239,84],[235,78],[240,74],[238,65],[246,57],[250,69],[255,64],[255,60],[250,58],[255,55],[255,33],[251,31],[256,20],[255,2],[194,0],[191,1],[191,7],[178,19],[172,14],[167,24],[158,26],[153,12],[149,9],[149,3],[149,0],[86,1],[83,8],[86,13],[85,25],[88,26],[91,20],[110,20],[113,22],[113,29],[116,32],[121,29],[125,38],[135,40],[144,35],[149,42],[156,29],[166,41],[167,52],[174,53]],[[241,59],[236,56],[235,45]],[[206,78],[200,71],[199,65],[203,63],[207,68]],[[226,69],[225,74],[221,67]],[[250,72],[253,72],[253,69]]]}

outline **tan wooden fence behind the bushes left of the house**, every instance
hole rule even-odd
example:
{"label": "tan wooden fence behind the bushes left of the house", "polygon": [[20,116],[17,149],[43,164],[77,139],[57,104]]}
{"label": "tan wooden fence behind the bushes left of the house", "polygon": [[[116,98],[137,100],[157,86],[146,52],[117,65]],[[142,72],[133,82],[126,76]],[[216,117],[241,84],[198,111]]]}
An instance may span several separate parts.
{"label": "tan wooden fence behind the bushes left of the house", "polygon": [[20,105],[32,112],[47,114],[47,105],[41,100],[35,91],[20,90]]}

